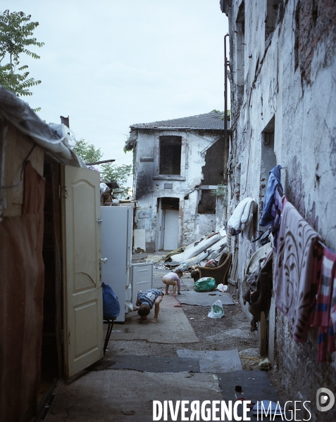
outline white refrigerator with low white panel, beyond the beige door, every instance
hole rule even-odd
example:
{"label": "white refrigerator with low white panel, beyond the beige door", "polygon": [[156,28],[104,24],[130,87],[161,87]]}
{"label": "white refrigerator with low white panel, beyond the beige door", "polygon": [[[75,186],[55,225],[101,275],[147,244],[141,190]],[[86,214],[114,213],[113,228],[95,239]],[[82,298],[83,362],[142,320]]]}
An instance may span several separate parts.
{"label": "white refrigerator with low white panel, beyond the beige door", "polygon": [[116,293],[120,303],[117,322],[125,321],[139,290],[153,284],[153,264],[132,264],[133,208],[101,207],[101,281]]}

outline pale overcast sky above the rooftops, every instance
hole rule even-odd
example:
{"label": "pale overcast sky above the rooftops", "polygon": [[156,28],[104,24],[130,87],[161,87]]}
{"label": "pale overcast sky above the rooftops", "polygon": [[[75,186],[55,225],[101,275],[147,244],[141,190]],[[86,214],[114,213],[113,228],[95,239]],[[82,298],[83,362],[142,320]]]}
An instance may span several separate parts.
{"label": "pale overcast sky above the rooftops", "polygon": [[[5,2],[1,2],[4,5]],[[22,57],[41,79],[28,99],[39,116],[70,116],[76,139],[102,159],[123,153],[130,124],[223,110],[223,37],[219,0],[7,0],[38,21],[40,60]]]}

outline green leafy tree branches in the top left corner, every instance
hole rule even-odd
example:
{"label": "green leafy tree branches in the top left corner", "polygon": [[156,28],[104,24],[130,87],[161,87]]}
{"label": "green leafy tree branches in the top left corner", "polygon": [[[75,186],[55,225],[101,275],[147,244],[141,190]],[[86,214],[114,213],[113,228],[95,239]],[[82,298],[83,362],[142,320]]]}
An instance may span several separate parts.
{"label": "green leafy tree branches in the top left corner", "polygon": [[[42,47],[43,42],[32,37],[38,22],[30,22],[31,15],[23,12],[4,11],[0,15],[0,84],[16,96],[32,96],[31,87],[41,83],[29,77],[27,65],[20,65],[20,56],[26,54],[38,59],[30,46]],[[8,63],[4,63],[8,60]]]}

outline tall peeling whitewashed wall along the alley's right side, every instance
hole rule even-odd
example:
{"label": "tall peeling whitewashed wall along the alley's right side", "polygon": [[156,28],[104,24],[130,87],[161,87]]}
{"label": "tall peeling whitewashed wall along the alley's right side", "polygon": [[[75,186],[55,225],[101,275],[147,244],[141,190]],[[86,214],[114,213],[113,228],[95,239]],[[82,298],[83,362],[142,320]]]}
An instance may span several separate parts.
{"label": "tall peeling whitewashed wall along the alley's right side", "polygon": [[[263,166],[267,165],[263,130],[275,117],[272,154],[282,170],[285,194],[323,241],[336,250],[336,1],[283,0],[275,31],[265,39],[267,1],[245,0],[244,96],[239,98],[241,0],[228,8],[230,25],[231,84],[229,210],[250,196],[263,205]],[[269,151],[268,151],[269,152]],[[267,183],[267,179],[266,179]],[[257,233],[256,233],[257,234]],[[234,249],[232,239],[232,250]],[[239,235],[239,279],[256,243]],[[336,353],[329,362],[316,363],[316,338],[298,345],[290,335],[287,319],[276,317],[275,362],[288,397],[316,400],[316,390],[334,390]],[[298,382],[304,383],[299,388]],[[318,420],[316,407],[313,418]],[[332,412],[331,412],[332,413]],[[335,421],[335,414],[323,421]],[[321,415],[321,414],[320,414]],[[321,420],[321,419],[320,419]]]}

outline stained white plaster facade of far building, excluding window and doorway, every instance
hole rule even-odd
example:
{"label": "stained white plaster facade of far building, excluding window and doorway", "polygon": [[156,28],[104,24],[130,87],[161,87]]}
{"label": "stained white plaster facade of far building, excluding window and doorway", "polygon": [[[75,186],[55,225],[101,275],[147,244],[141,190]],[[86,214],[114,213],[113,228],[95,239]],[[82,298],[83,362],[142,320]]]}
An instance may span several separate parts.
{"label": "stained white plaster facade of far building, excluding window and doorway", "polygon": [[[181,175],[158,174],[159,136],[181,136]],[[204,174],[202,167],[216,165],[211,157],[206,162],[206,153],[211,148],[216,151],[214,143],[223,142],[223,133],[198,131],[143,130],[139,131],[135,146],[135,228],[145,229],[146,248],[156,250],[159,222],[158,198],[170,197],[180,200],[179,210],[179,245],[197,240],[204,234],[216,229],[216,215],[198,215],[198,186],[202,184]],[[223,148],[218,144],[217,156],[223,156]],[[220,162],[220,158],[219,158]],[[221,164],[223,166],[223,164]],[[220,181],[220,172],[218,183]],[[223,170],[221,170],[223,174]],[[209,176],[208,176],[209,177]],[[167,184],[171,188],[167,188]],[[165,188],[166,185],[166,188]],[[187,197],[185,199],[185,197]],[[145,214],[144,214],[145,212]]]}

